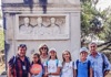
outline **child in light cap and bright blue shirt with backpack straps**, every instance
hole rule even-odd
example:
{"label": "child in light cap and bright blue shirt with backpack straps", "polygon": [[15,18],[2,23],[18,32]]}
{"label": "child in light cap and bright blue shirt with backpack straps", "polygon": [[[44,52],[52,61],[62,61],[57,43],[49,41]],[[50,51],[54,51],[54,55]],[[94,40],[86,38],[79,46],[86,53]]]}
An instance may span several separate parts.
{"label": "child in light cap and bright blue shirt with backpack straps", "polygon": [[74,77],[92,77],[92,68],[90,61],[87,59],[88,50],[82,47],[80,50],[80,59],[74,64]]}

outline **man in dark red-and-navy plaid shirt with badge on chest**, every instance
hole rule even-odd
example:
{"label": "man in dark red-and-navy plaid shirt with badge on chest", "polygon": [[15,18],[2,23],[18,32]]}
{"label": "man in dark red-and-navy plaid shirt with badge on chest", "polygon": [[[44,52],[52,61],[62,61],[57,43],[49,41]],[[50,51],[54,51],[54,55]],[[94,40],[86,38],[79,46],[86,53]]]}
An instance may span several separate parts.
{"label": "man in dark red-and-navy plaid shirt with badge on chest", "polygon": [[30,77],[30,62],[26,56],[27,45],[18,46],[18,54],[8,62],[8,77]]}

